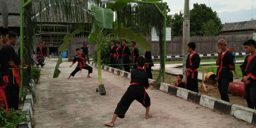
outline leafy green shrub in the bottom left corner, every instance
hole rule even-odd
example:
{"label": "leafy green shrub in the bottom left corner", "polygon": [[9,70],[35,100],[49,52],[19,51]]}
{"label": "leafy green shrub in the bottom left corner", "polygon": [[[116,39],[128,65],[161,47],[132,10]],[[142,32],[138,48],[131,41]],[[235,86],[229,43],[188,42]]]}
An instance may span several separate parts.
{"label": "leafy green shrub in the bottom left corner", "polygon": [[[31,122],[27,114],[21,114],[14,109],[9,109],[9,114],[0,108],[0,128],[16,128],[21,122]],[[34,124],[31,122],[32,126]]]}

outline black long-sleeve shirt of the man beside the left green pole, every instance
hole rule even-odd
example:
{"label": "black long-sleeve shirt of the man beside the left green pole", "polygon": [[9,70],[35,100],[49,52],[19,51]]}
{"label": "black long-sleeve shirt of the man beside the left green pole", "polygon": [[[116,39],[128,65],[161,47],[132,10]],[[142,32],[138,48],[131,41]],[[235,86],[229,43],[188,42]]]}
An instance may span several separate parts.
{"label": "black long-sleeve shirt of the man beside the left green pole", "polygon": [[11,75],[12,72],[9,69],[11,66],[9,65],[9,62],[12,60],[14,61],[15,65],[20,65],[21,60],[20,57],[15,53],[14,49],[11,47],[11,45],[4,44],[3,48],[0,53],[0,64],[2,66],[2,75]]}

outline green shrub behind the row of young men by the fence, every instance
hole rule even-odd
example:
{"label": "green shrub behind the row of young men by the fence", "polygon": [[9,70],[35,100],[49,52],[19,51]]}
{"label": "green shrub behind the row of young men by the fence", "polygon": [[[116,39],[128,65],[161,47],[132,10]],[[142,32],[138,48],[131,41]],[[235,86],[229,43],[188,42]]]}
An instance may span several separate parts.
{"label": "green shrub behind the row of young men by the fence", "polygon": [[[103,41],[101,43],[101,51],[100,51],[100,60],[101,60],[101,64],[110,64],[110,60],[109,60],[109,48],[111,46],[110,41],[114,40],[115,42],[119,41],[120,42],[120,46],[122,47],[122,38],[118,38],[118,37],[111,37],[111,38],[107,38],[105,41]],[[116,44],[115,44],[116,45]],[[126,40],[126,45],[129,47],[130,52],[132,54],[133,52],[133,48],[131,46],[131,40]],[[142,49],[140,49],[137,46],[139,52],[142,52]],[[131,55],[132,56],[132,55]],[[93,52],[93,62],[97,62],[97,50],[95,50]],[[130,63],[132,63],[132,60],[130,59]]]}

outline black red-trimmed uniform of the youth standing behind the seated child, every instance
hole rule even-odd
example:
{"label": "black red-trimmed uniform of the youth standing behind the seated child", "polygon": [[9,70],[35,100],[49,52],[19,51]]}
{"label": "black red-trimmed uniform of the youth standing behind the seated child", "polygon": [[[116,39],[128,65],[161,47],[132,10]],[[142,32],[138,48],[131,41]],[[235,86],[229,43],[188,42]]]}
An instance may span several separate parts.
{"label": "black red-trimmed uniform of the youth standing behind the seated child", "polygon": [[187,61],[186,61],[186,69],[189,69],[190,75],[186,75],[186,87],[190,91],[194,91],[198,93],[198,81],[197,76],[198,72],[197,69],[200,65],[200,57],[198,53],[188,54]]}

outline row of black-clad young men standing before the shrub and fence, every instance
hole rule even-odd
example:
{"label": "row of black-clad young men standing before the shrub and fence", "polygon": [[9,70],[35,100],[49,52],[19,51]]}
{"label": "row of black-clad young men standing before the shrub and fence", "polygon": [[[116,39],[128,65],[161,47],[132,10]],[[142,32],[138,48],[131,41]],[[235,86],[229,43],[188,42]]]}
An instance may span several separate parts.
{"label": "row of black-clad young men standing before the shrub and fence", "polygon": [[[116,45],[115,45],[116,43]],[[136,47],[136,42],[131,41],[131,46],[133,48],[132,54],[130,52],[129,47],[126,44],[126,40],[122,40],[122,47],[120,46],[120,42],[115,42],[114,40],[111,41],[111,46],[109,47],[109,59],[110,59],[110,66],[113,68],[116,68],[118,65],[119,70],[122,70],[122,65],[124,68],[124,71],[130,73],[130,65],[133,65],[133,69],[136,69],[138,66],[136,65],[137,59],[139,57],[139,50]],[[132,57],[130,57],[132,55]],[[144,66],[144,69],[146,70],[148,77],[152,79],[152,73],[151,73],[151,67],[154,66],[151,52],[145,51],[145,58],[146,63]],[[132,63],[130,63],[130,58],[132,60]]]}

